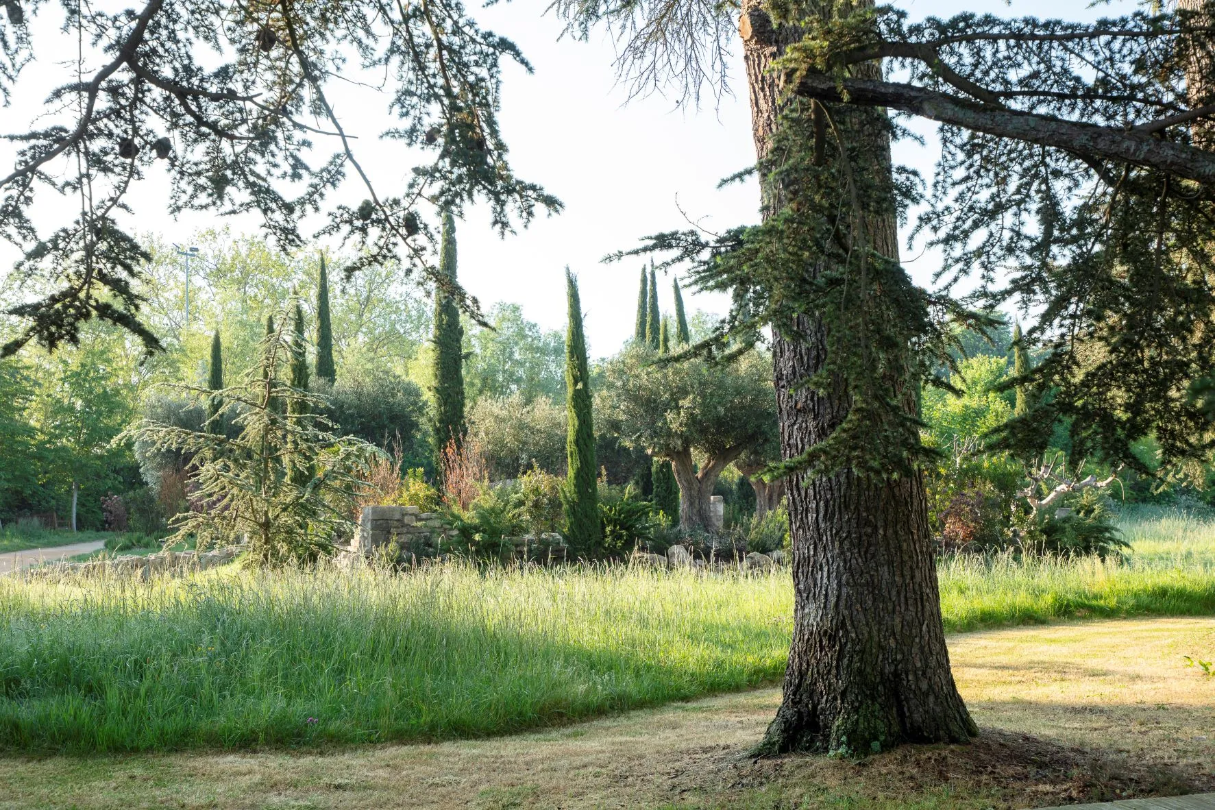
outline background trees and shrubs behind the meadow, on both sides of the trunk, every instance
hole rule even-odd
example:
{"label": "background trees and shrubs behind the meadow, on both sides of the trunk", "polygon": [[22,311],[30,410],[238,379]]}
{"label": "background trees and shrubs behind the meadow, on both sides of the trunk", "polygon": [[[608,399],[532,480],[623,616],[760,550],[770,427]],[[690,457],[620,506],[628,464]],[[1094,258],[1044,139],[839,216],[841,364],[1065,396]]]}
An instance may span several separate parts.
{"label": "background trees and shrubs behind the meadow, on both sides of the trunk", "polygon": [[[143,357],[141,346],[118,330],[89,328],[78,346],[55,355],[28,349],[0,361],[0,521],[53,514],[63,526],[74,512],[81,529],[164,532],[173,515],[191,508],[188,459],[140,448],[124,431],[143,419],[200,430],[207,403],[160,384],[207,387],[216,349],[228,384],[239,379],[258,363],[267,317],[290,311],[295,301],[309,363],[316,367],[309,385],[329,403],[326,415],[338,432],[392,457],[402,488],[380,487],[383,493],[436,498],[439,492],[424,486],[441,472],[433,291],[399,267],[383,266],[349,279],[328,278],[322,295],[320,253],[284,256],[259,239],[222,231],[200,234],[194,244],[200,257],[191,272],[188,324],[176,249],[156,244],[147,267],[146,315],[165,352]],[[322,308],[328,310],[327,330],[321,329]],[[527,321],[514,304],[496,305],[487,316],[492,329],[462,318],[458,332],[464,435],[476,457],[465,472],[486,483],[515,483],[469,494],[458,504],[459,520],[470,539],[566,529],[558,486],[569,458],[566,338]],[[781,545],[782,489],[758,475],[778,458],[770,359],[761,350],[724,367],[697,359],[655,363],[701,340],[713,323],[703,313],[689,315],[678,282],[659,278],[652,267],[642,271],[635,312],[621,317],[633,321],[633,340],[590,368],[603,542],[618,545],[616,551],[638,540],[660,550],[689,539],[695,545],[707,528],[708,498],[718,494],[735,548]],[[0,333],[6,328],[11,324],[0,324]],[[961,396],[936,389],[922,396],[925,441],[940,451],[929,471],[933,529],[950,549],[1042,542],[1044,532],[1072,525],[1049,516],[1032,525],[1027,517],[1027,470],[1042,459],[984,448],[989,431],[1025,407],[1018,404],[1024,392],[1013,379],[1017,347],[1023,367],[1038,357],[1010,324],[988,339],[959,338],[956,369],[939,374]],[[320,373],[321,358],[327,362],[330,352],[332,372]],[[1072,480],[1112,472],[1070,458],[1067,436],[1067,425],[1055,426],[1056,471],[1066,470]],[[1119,470],[1118,481],[1101,493],[1069,498],[1068,509],[1087,522],[1067,531],[1087,538],[1085,550],[1107,548],[1101,527],[1109,521],[1101,510],[1111,499],[1215,504],[1210,464],[1160,470],[1152,440],[1140,442],[1137,452],[1157,475]],[[113,525],[115,498],[120,527]],[[1075,540],[1052,537],[1046,539],[1055,549]]]}

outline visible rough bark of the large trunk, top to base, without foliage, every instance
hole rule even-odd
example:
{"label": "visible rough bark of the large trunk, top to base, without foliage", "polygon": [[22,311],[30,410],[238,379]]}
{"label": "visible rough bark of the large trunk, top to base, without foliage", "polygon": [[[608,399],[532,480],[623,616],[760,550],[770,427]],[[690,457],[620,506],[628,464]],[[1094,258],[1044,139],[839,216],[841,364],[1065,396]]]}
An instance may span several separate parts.
{"label": "visible rough bark of the large trunk, top to base, without foliage", "polygon": [[[797,33],[773,29],[758,0],[746,0],[742,13],[752,125],[763,159],[781,103],[779,77],[769,68]],[[863,78],[880,74],[877,66],[866,68]],[[835,106],[829,112],[843,142],[868,138],[865,153],[876,155],[872,165],[854,165],[853,172],[889,177],[885,112]],[[792,193],[767,186],[765,216]],[[897,257],[894,211],[865,225],[871,247]],[[823,441],[848,412],[842,391],[820,393],[804,385],[824,366],[826,338],[813,317],[773,324],[786,459]],[[910,391],[914,383],[903,383]],[[868,754],[902,742],[968,740],[977,730],[950,673],[922,476],[797,475],[789,483],[789,514],[793,636],[784,701],[759,750]]]}

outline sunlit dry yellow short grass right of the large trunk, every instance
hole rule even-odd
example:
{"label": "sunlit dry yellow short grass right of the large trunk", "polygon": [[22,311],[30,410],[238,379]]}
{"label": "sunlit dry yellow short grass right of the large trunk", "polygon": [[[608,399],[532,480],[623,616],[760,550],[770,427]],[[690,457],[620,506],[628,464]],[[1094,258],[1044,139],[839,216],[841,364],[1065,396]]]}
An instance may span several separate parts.
{"label": "sunlit dry yellow short grass right of the large trunk", "polygon": [[1091,622],[973,633],[950,645],[979,723],[1215,780],[1215,619]]}

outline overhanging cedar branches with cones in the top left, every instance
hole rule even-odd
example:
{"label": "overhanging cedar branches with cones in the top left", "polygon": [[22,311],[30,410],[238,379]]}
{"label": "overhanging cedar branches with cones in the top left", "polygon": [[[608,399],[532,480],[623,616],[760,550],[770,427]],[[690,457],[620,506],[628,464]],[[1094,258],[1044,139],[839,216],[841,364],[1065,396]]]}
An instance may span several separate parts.
{"label": "overhanging cedar branches with cones in the top left", "polygon": [[[323,214],[320,233],[358,256],[347,273],[403,262],[477,318],[477,302],[435,271],[426,214],[482,199],[507,232],[560,208],[513,174],[498,131],[501,62],[530,67],[458,0],[147,0],[118,12],[61,0],[62,28],[40,28],[45,41],[32,26],[56,4],[0,5],[0,100],[33,84],[35,56],[73,63],[36,128],[0,135],[13,147],[0,238],[23,254],[10,279],[18,328],[0,355],[74,342],[94,318],[159,347],[139,317],[148,256],[124,231],[130,192],[154,171],[168,176],[170,214],[250,213],[284,250],[303,244],[303,217]],[[397,119],[384,136],[418,149],[412,170],[360,160],[335,102],[355,68],[380,78]],[[328,204],[347,176],[364,202]]]}

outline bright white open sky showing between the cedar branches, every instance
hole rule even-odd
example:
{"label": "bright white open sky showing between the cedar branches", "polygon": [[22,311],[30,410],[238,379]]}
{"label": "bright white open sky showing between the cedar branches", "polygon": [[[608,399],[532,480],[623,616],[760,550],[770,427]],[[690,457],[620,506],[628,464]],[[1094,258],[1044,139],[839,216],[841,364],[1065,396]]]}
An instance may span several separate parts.
{"label": "bright white open sky showing between the cedar branches", "polygon": [[[480,10],[474,16],[488,28],[515,41],[532,63],[529,75],[507,66],[503,75],[501,126],[510,147],[516,174],[541,183],[565,203],[565,211],[538,220],[518,236],[501,240],[488,227],[487,214],[470,211],[457,226],[460,281],[486,306],[515,301],[525,315],[544,328],[563,328],[565,290],[563,271],[569,265],[580,277],[582,302],[592,356],[614,352],[632,334],[640,261],[615,265],[600,259],[637,244],[657,231],[686,227],[679,208],[708,230],[727,228],[757,219],[758,189],[753,181],[717,191],[717,182],[753,160],[753,146],[742,79],[741,58],[735,53],[734,97],[714,109],[682,109],[661,97],[625,103],[625,87],[616,86],[614,47],[603,35],[590,43],[558,41],[561,26],[542,15],[547,0],[515,0]],[[111,4],[104,4],[111,5]],[[125,5],[125,4],[123,4]],[[471,4],[470,4],[471,5]],[[914,17],[950,16],[962,11],[990,11],[1007,16],[1062,16],[1095,18],[1124,13],[1132,0],[1089,9],[1087,0],[981,0],[978,7],[962,0],[905,0],[897,4]],[[72,38],[50,32],[60,49],[36,45],[41,58],[74,58]],[[47,55],[49,56],[43,56]],[[51,75],[49,62],[27,69]],[[46,85],[24,91],[10,108],[0,108],[0,131],[18,132],[39,114]],[[375,136],[388,120],[379,114],[369,94],[351,89],[333,92],[338,114],[347,130],[362,135],[357,146],[364,166],[372,166],[377,183],[391,193],[391,183],[414,164],[396,143]],[[367,111],[374,109],[369,114]],[[936,148],[932,128],[927,146],[905,142],[895,159],[931,177]],[[328,145],[321,145],[328,154]],[[0,165],[9,147],[0,145]],[[347,181],[341,202],[366,197]],[[44,197],[46,196],[43,192]],[[253,220],[222,220],[190,215],[173,221],[165,213],[165,185],[147,182],[130,197],[136,208],[134,227],[159,232],[170,240],[186,240],[197,230],[228,225],[236,231],[255,231]],[[315,228],[309,228],[309,232]],[[0,244],[0,273],[11,266],[15,251]],[[920,283],[928,283],[936,257],[919,249],[904,250],[908,267]],[[669,279],[660,279],[660,304],[671,306]],[[724,311],[720,296],[694,296],[689,308]]]}

